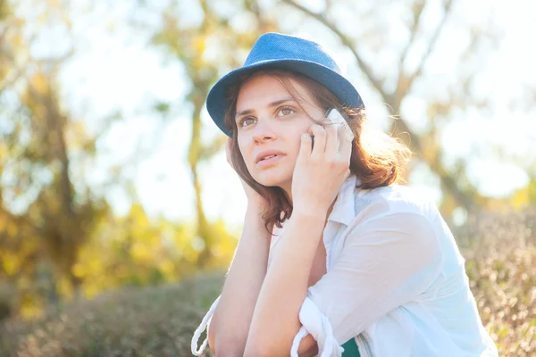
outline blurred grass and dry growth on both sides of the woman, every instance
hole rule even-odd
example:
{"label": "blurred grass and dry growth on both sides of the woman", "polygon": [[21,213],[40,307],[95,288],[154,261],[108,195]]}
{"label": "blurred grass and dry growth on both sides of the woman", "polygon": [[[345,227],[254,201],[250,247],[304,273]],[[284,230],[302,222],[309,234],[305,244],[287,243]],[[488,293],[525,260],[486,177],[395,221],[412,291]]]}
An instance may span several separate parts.
{"label": "blurred grass and dry growth on both sides of the woman", "polygon": [[[471,215],[456,239],[499,355],[536,355],[536,213]],[[191,336],[223,276],[214,271],[175,285],[110,291],[39,320],[7,320],[0,356],[191,356]]]}

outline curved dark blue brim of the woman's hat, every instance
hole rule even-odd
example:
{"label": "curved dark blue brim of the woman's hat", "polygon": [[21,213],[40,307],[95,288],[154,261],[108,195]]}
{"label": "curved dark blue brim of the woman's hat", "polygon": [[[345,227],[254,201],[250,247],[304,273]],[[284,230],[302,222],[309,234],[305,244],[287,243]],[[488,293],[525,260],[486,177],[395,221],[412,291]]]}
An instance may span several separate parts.
{"label": "curved dark blue brim of the woman's hat", "polygon": [[306,75],[330,90],[339,99],[341,104],[350,108],[363,106],[361,96],[348,79],[345,79],[338,72],[322,66],[322,64],[294,59],[255,62],[250,66],[244,66],[227,73],[222,79],[216,82],[206,97],[206,109],[208,113],[218,128],[228,137],[232,137],[232,132],[225,128],[223,116],[227,111],[226,95],[229,87],[234,85],[243,75],[265,69],[295,71]]}

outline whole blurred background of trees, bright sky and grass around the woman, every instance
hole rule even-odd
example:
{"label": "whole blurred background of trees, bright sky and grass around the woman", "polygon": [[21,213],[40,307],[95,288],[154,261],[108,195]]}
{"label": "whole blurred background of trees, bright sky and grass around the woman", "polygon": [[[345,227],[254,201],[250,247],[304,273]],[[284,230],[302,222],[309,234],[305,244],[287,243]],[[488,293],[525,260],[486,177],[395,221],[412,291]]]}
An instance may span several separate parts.
{"label": "whole blurred background of trees, bright sky and grass around the woman", "polygon": [[411,147],[500,355],[536,353],[536,4],[0,0],[1,356],[191,355],[247,203],[205,98],[267,31]]}

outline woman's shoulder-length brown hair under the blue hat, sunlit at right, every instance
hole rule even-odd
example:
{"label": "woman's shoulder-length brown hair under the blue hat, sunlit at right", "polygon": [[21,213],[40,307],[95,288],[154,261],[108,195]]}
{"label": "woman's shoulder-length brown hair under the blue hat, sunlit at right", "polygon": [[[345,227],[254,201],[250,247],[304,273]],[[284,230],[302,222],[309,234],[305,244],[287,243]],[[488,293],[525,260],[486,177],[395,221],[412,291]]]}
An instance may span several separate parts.
{"label": "woman's shoulder-length brown hair under the blue hat, sunlit at right", "polygon": [[[305,100],[305,98],[297,93],[296,88],[289,79],[294,79],[306,87],[314,97],[316,104],[320,105],[324,112],[327,112],[330,108],[337,108],[343,115],[346,114],[348,125],[355,136],[349,169],[352,174],[355,174],[361,180],[359,187],[368,189],[389,186],[401,179],[403,167],[411,157],[411,151],[398,138],[368,128],[364,107],[348,108],[341,105],[339,99],[330,90],[314,79],[296,72],[270,69],[247,74],[240,78],[227,92],[228,109],[225,112],[224,123],[225,127],[232,132],[230,159],[233,167],[237,170],[239,176],[249,186],[253,187],[257,193],[262,195],[268,203],[268,208],[263,212],[263,219],[264,227],[270,233],[272,233],[271,228],[274,224],[281,228],[281,223],[290,218],[292,204],[281,187],[265,187],[256,182],[249,174],[246,162],[244,162],[244,158],[240,153],[237,139],[238,129],[235,121],[240,87],[247,79],[261,74],[268,74],[278,79],[283,87],[287,89],[289,95],[300,106],[297,96],[301,100]],[[310,119],[317,122],[313,118]]]}

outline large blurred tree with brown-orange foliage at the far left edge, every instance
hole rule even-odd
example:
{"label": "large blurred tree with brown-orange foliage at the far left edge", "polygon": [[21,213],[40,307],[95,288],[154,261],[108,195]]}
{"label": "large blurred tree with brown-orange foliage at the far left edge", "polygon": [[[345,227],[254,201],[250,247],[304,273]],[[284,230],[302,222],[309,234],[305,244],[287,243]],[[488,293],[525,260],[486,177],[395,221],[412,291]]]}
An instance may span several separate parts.
{"label": "large blurred tree with brown-orange foliage at the far left edge", "polygon": [[[84,172],[96,137],[71,118],[58,97],[57,73],[72,54],[44,57],[33,46],[48,21],[69,29],[60,4],[47,4],[36,23],[2,4],[0,38],[0,278],[20,291],[20,302],[59,299],[58,283],[79,295],[74,273],[93,222],[106,210]],[[29,304],[25,304],[28,305]]]}

